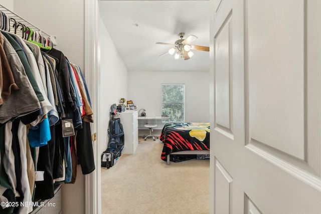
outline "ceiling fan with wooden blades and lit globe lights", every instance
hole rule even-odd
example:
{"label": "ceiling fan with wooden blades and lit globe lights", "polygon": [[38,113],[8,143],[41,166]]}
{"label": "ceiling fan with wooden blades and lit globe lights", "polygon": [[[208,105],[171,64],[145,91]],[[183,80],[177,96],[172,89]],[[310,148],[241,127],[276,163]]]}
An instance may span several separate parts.
{"label": "ceiling fan with wooden blades and lit globe lights", "polygon": [[193,41],[197,39],[196,36],[190,35],[186,39],[183,39],[184,33],[180,33],[179,37],[181,39],[175,41],[175,44],[170,44],[170,43],[156,43],[160,45],[170,45],[173,46],[168,52],[162,54],[161,56],[169,53],[171,55],[174,55],[175,59],[179,59],[180,57],[183,58],[184,60],[189,60],[191,57],[193,57],[194,53],[191,51],[193,50],[199,50],[199,51],[210,51],[209,47],[206,46],[199,46],[199,45],[191,45]]}

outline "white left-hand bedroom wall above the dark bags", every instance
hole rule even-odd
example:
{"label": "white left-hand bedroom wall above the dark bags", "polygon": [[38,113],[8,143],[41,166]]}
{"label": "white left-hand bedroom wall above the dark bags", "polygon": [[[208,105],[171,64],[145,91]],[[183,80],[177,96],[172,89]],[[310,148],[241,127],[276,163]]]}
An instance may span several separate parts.
{"label": "white left-hand bedroom wall above the dark bags", "polygon": [[112,104],[119,104],[119,99],[127,97],[127,69],[112,42],[109,33],[99,20],[100,42],[100,95],[98,106],[98,143],[103,152],[107,148],[109,108]]}

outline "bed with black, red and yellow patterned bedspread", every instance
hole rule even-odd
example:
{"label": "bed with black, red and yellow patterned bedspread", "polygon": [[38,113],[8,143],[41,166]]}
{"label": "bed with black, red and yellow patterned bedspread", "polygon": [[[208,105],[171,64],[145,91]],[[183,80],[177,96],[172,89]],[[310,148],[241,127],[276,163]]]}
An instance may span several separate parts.
{"label": "bed with black, red and yellow patterned bedspread", "polygon": [[167,164],[171,154],[209,154],[210,123],[166,123],[159,140],[164,143],[161,158]]}

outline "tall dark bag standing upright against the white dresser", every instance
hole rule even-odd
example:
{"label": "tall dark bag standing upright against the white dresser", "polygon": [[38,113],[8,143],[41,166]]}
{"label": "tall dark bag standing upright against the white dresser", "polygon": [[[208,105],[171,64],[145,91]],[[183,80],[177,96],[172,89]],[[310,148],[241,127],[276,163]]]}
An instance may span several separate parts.
{"label": "tall dark bag standing upright against the white dresser", "polygon": [[118,149],[121,155],[121,151],[124,149],[125,136],[120,118],[112,117],[109,120],[108,135],[108,148]]}

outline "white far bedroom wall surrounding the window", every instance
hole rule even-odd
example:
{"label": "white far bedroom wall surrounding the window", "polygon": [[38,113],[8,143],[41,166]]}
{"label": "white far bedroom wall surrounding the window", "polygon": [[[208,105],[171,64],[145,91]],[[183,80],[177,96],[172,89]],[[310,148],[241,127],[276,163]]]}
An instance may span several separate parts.
{"label": "white far bedroom wall surrounding the window", "polygon": [[147,116],[162,115],[162,83],[185,84],[185,121],[210,122],[209,72],[128,72],[128,97]]}

